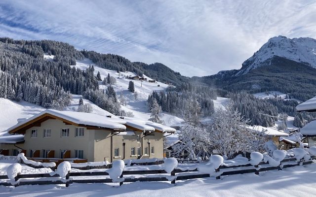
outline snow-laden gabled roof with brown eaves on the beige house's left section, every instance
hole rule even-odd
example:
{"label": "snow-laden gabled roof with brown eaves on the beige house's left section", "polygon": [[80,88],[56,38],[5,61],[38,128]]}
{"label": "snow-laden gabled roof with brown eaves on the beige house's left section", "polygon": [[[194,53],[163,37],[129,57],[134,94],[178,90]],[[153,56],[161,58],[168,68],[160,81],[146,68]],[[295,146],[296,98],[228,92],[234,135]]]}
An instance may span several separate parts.
{"label": "snow-laden gabled roof with brown eaves on the beige house's left section", "polygon": [[7,129],[7,131],[12,131],[21,125],[24,125],[43,114],[50,114],[53,116],[57,116],[68,120],[70,122],[79,124],[79,125],[86,125],[86,126],[96,126],[108,129],[121,129],[125,130],[126,127],[122,124],[119,124],[115,121],[111,121],[109,118],[105,118],[104,116],[94,114],[94,113],[84,113],[84,112],[76,112],[76,111],[58,111],[54,109],[47,109],[45,111],[40,112],[39,114],[32,116],[31,118],[26,119],[25,121],[19,122],[18,124],[14,125],[13,127]]}

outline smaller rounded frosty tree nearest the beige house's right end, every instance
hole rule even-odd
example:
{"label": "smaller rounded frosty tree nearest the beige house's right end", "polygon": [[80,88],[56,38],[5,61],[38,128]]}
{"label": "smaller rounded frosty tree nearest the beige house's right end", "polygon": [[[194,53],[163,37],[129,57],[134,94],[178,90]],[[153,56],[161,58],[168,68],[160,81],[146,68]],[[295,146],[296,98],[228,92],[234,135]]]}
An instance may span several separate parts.
{"label": "smaller rounded frosty tree nearest the beige house's right end", "polygon": [[183,153],[188,153],[188,159],[205,157],[208,155],[209,135],[204,128],[186,124],[179,132],[182,143],[173,146],[174,157],[181,158]]}

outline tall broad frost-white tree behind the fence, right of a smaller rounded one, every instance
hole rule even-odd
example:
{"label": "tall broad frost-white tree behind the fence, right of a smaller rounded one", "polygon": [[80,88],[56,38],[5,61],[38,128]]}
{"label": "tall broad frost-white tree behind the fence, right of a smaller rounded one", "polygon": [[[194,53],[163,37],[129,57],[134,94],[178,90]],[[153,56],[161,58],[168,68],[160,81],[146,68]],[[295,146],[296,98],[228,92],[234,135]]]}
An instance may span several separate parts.
{"label": "tall broad frost-white tree behind the fence, right of a smaller rounded one", "polygon": [[248,122],[233,107],[233,103],[219,108],[208,127],[210,146],[227,158],[232,158],[239,151],[248,151],[251,145],[249,135],[253,133],[247,128]]}

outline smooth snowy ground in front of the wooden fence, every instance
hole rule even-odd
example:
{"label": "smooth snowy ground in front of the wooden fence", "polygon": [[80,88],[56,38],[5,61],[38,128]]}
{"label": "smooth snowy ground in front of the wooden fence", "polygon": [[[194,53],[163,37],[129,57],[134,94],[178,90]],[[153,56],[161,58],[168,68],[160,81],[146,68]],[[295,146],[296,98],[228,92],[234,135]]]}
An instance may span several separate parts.
{"label": "smooth snowy ground in front of the wooden fence", "polygon": [[72,184],[0,187],[1,197],[313,197],[316,164],[260,172],[177,182],[135,182],[122,186]]}

